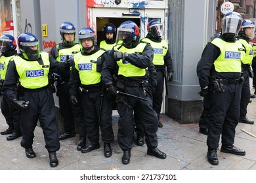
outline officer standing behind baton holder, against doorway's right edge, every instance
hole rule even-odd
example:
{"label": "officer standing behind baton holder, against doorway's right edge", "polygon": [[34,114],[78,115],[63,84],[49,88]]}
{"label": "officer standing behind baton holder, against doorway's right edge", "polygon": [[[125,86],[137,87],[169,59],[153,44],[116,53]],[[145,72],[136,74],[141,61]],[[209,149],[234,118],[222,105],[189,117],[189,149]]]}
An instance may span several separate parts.
{"label": "officer standing behind baton holder, against doorway's right edge", "polygon": [[169,52],[168,43],[163,39],[163,24],[161,24],[160,20],[151,20],[148,22],[147,29],[148,34],[142,41],[150,43],[154,48],[153,63],[158,74],[157,90],[153,95],[153,109],[158,114],[158,127],[163,127],[163,124],[159,121],[161,103],[163,102],[163,83],[164,79],[167,78],[165,77],[167,73],[168,80],[170,82],[173,80],[173,59]]}

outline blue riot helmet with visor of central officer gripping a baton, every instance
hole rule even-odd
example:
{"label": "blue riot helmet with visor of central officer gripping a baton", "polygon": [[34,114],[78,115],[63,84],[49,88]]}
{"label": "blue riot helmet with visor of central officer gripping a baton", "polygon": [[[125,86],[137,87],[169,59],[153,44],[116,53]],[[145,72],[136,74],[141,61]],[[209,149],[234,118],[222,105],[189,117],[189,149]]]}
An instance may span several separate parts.
{"label": "blue riot helmet with visor of central officer gripping a baton", "polygon": [[123,46],[134,48],[139,44],[140,31],[139,27],[133,21],[123,22],[117,28],[116,43],[122,41]]}

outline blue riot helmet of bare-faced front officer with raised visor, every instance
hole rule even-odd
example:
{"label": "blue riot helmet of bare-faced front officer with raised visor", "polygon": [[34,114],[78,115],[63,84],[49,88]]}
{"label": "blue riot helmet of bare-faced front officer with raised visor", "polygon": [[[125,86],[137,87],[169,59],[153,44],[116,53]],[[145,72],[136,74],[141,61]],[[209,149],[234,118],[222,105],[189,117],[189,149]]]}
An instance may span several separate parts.
{"label": "blue riot helmet of bare-faced front officer with raised visor", "polygon": [[[78,39],[79,39],[79,44],[81,46],[82,52],[86,52],[91,48],[93,48],[93,46],[97,45],[95,31],[91,27],[83,27],[78,33]],[[82,44],[82,41],[84,39],[92,39],[93,45],[89,47],[84,47]]]}

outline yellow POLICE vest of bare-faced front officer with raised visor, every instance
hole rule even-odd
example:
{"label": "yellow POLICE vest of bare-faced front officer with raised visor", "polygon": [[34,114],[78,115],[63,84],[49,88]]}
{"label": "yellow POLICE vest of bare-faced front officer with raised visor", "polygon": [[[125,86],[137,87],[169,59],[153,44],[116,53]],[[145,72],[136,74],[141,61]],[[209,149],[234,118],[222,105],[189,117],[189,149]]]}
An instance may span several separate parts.
{"label": "yellow POLICE vest of bare-faced front officer with raised visor", "polygon": [[81,52],[75,54],[75,69],[77,69],[79,73],[81,84],[90,85],[100,82],[101,74],[96,71],[96,67],[97,60],[101,59],[100,57],[104,53],[106,53],[105,50],[98,50],[98,52],[89,56],[83,56]]}

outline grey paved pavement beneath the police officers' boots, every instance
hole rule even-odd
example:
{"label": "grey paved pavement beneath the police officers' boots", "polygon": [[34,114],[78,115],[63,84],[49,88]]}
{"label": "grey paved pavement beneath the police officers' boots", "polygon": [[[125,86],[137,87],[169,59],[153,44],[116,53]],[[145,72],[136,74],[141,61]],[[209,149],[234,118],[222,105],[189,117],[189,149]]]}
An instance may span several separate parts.
{"label": "grey paved pavement beneath the police officers' boots", "polygon": [[[254,89],[251,88],[251,92]],[[256,99],[251,99],[247,107],[247,117],[256,123]],[[122,150],[117,144],[118,116],[113,117],[115,141],[112,143],[113,155],[104,157],[103,142],[100,148],[82,154],[76,150],[78,135],[60,141],[60,150],[56,153],[59,165],[51,168],[49,156],[41,127],[35,128],[33,150],[36,157],[26,158],[24,148],[20,146],[21,137],[7,141],[7,135],[0,135],[0,170],[256,170],[256,138],[245,131],[256,135],[256,124],[238,124],[234,145],[246,151],[245,156],[225,154],[218,151],[219,165],[208,163],[207,136],[198,132],[198,124],[179,124],[168,116],[161,114],[162,128],[158,129],[158,148],[167,154],[166,159],[158,159],[146,154],[146,145],[133,144],[131,162],[121,163]],[[0,131],[7,128],[3,115],[0,114]],[[1,171],[0,171],[1,173]]]}

